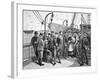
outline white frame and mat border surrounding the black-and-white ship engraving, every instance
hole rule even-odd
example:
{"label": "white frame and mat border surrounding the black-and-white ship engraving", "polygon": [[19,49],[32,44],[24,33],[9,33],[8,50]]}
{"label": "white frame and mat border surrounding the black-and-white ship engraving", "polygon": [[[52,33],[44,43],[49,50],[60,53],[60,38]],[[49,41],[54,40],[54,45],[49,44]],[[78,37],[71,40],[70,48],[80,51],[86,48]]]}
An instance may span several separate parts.
{"label": "white frame and mat border surrounding the black-and-white ship engraving", "polygon": [[[66,75],[70,73],[96,72],[96,53],[95,53],[95,32],[96,30],[96,8],[55,6],[55,5],[36,5],[12,2],[12,77],[42,77],[54,75]],[[23,70],[22,67],[22,10],[49,10],[66,12],[91,13],[91,66],[89,67],[68,67],[57,69],[31,69]]]}

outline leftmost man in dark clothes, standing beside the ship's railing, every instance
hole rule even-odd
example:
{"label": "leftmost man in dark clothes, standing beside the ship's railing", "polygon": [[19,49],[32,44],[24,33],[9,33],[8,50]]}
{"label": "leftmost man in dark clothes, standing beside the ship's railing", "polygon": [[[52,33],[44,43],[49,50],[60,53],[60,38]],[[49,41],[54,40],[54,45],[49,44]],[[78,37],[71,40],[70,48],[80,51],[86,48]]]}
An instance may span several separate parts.
{"label": "leftmost man in dark clothes, standing beside the ship's railing", "polygon": [[[38,59],[38,51],[37,51],[38,43],[37,43],[37,39],[38,39],[38,32],[35,31],[35,32],[34,32],[34,36],[33,36],[32,39],[31,39],[31,44],[33,45],[34,53],[35,53],[36,59]],[[32,60],[33,60],[33,57],[32,57]]]}

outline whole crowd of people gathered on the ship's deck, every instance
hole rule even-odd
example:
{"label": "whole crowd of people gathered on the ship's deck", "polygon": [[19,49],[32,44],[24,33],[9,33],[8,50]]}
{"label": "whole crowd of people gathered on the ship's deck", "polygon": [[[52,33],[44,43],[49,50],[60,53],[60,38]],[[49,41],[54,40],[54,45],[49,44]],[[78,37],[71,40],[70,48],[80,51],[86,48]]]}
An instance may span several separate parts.
{"label": "whole crowd of people gathered on the ship's deck", "polygon": [[80,33],[67,32],[34,32],[31,44],[34,48],[35,57],[40,66],[42,62],[55,65],[61,64],[61,58],[76,57],[80,66],[88,65],[90,55],[90,36],[83,36]]}

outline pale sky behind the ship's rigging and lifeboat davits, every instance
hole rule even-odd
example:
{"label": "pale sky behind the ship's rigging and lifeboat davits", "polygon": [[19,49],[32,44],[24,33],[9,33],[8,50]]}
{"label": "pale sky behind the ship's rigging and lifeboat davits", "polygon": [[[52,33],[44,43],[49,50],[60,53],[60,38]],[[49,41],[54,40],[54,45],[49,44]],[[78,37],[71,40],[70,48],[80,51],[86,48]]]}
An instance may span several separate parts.
{"label": "pale sky behind the ship's rigging and lifeboat davits", "polygon": [[[45,16],[50,13],[48,11],[38,11],[41,15],[42,19],[45,19]],[[63,13],[63,12],[53,12],[53,23],[63,25],[64,20],[68,20],[68,26],[70,26],[72,22],[72,18],[74,13]],[[87,22],[87,14],[83,14],[85,21]],[[39,17],[39,16],[38,16]],[[46,19],[47,24],[50,23],[51,15],[49,15]],[[75,20],[74,20],[75,27],[80,29],[81,24],[81,14],[76,14]],[[36,15],[30,11],[24,11],[24,30],[43,30],[44,25],[41,25],[39,18],[36,17]]]}

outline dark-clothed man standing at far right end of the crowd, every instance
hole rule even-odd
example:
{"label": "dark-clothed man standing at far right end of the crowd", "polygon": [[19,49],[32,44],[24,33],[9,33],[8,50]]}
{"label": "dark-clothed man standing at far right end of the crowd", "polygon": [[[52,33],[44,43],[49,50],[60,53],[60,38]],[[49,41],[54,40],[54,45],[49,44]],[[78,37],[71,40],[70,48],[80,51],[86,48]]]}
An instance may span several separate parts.
{"label": "dark-clothed man standing at far right end of the crowd", "polygon": [[80,66],[83,66],[84,64],[88,65],[88,45],[89,43],[87,37],[84,37],[84,34],[81,34],[78,49],[78,62]]}

